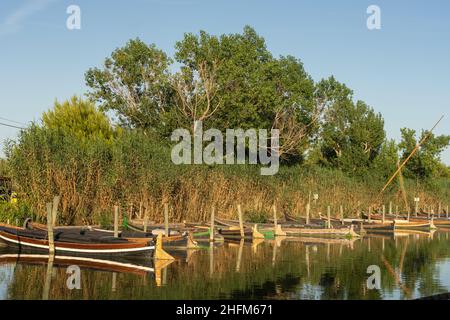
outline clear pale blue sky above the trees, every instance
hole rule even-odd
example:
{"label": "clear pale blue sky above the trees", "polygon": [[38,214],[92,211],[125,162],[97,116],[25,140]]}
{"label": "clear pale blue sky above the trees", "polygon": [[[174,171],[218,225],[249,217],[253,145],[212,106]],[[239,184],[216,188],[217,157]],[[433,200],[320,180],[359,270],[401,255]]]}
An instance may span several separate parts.
{"label": "clear pale blue sky above the trees", "polygon": [[[66,8],[82,10],[82,29],[66,28]],[[381,8],[369,31],[366,9]],[[275,55],[300,58],[315,80],[334,75],[401,127],[450,134],[450,1],[412,0],[2,0],[0,117],[27,123],[53,101],[86,92],[84,72],[128,39],[172,54],[185,32],[242,31],[251,25]],[[0,119],[0,122],[3,122]],[[0,126],[0,140],[15,129]],[[450,150],[443,160],[450,165]]]}

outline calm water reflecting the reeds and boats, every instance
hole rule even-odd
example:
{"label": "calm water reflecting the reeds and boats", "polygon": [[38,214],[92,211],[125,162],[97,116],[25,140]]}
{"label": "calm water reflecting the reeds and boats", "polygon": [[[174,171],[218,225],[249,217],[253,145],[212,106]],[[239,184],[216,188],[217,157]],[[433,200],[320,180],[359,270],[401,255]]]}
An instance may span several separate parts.
{"label": "calm water reflecting the reeds and boats", "polygon": [[[136,268],[129,261],[49,264],[45,255],[18,258],[0,248],[0,299],[414,299],[450,291],[443,232],[205,244],[174,254],[169,265],[133,262]],[[79,290],[67,286],[73,264]],[[380,290],[367,288],[371,265],[380,267]]]}

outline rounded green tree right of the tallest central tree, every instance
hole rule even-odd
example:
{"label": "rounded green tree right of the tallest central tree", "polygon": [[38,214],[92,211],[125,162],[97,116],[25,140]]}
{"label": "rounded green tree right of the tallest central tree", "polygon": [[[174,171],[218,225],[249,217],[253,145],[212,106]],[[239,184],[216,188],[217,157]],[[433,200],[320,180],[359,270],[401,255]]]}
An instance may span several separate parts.
{"label": "rounded green tree right of the tallest central tree", "polygon": [[373,164],[385,139],[384,120],[333,77],[318,84],[327,105],[320,135],[322,163],[349,173],[364,173]]}

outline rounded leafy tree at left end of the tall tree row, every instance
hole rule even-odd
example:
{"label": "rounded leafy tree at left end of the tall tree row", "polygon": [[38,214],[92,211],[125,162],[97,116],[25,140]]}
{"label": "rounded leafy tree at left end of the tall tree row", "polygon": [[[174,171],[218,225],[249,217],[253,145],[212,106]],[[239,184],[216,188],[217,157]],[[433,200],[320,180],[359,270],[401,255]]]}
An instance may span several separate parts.
{"label": "rounded leafy tree at left end of the tall tree row", "polygon": [[108,57],[103,68],[86,72],[89,97],[103,110],[114,111],[123,125],[148,129],[162,125],[173,106],[171,59],[155,45],[130,40]]}

